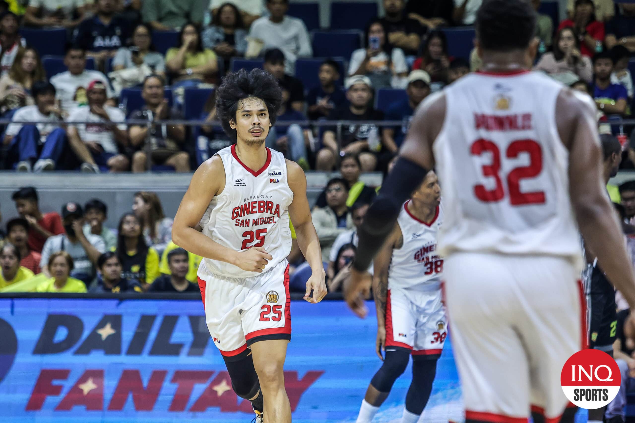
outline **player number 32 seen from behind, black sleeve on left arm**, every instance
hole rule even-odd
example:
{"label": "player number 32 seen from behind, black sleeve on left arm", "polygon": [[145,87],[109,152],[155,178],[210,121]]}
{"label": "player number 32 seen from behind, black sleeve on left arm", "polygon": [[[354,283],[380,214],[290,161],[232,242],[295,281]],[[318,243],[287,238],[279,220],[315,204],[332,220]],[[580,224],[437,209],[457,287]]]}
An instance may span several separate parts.
{"label": "player number 32 seen from behind, black sleeve on left arm", "polygon": [[363,271],[403,201],[436,166],[445,210],[439,252],[467,423],[526,421],[530,410],[534,421],[573,420],[560,372],[585,343],[578,226],[635,306],[632,266],[602,179],[596,107],[528,72],[534,28],[529,1],[483,1],[476,20],[483,72],[418,107],[359,231],[346,292],[365,315]]}

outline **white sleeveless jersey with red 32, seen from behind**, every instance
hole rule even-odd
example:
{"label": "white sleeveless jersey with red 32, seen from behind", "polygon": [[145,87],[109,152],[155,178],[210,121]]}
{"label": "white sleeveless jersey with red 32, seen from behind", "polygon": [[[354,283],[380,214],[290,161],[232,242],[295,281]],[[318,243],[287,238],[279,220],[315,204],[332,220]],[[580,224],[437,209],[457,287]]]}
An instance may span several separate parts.
{"label": "white sleeveless jersey with red 32, seen from behind", "polygon": [[441,256],[545,254],[581,266],[569,153],[556,126],[561,89],[518,72],[470,74],[443,90],[445,124],[433,147],[446,213]]}

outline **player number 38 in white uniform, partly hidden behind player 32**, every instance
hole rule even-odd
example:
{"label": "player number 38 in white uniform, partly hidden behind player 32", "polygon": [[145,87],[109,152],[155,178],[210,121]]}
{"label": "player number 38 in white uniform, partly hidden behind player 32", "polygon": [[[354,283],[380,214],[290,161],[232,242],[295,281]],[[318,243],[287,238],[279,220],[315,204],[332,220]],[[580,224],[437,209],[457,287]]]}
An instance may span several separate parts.
{"label": "player number 38 in white uniform, partly hidden behind player 32", "polygon": [[441,301],[443,259],[436,251],[443,210],[436,174],[430,171],[403,205],[391,235],[375,257],[377,355],[385,358],[370,381],[357,423],[370,423],[412,355],[412,382],[401,423],[418,422],[432,391],[436,361],[445,342]]}

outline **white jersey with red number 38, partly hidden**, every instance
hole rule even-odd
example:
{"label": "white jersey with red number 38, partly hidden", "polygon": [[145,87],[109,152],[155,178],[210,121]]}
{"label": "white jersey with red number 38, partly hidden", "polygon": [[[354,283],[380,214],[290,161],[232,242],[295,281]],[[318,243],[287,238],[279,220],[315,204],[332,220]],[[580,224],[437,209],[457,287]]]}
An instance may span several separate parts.
{"label": "white jersey with red number 38, partly hidden", "polygon": [[443,207],[437,207],[434,219],[427,224],[410,213],[409,202],[397,218],[403,245],[392,250],[388,288],[439,289],[443,259],[439,257],[437,236],[443,223]]}

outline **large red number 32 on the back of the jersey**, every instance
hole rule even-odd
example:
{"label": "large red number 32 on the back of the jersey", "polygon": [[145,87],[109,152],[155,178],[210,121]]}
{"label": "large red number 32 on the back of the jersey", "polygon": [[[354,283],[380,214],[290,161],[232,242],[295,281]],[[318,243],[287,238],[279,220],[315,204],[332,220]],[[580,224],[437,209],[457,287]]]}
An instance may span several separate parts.
{"label": "large red number 32 on the back of the jersey", "polygon": [[[502,200],[505,197],[505,190],[503,181],[500,179],[500,150],[498,146],[493,141],[481,138],[472,143],[470,152],[472,155],[491,153],[491,164],[483,165],[483,176],[489,176],[496,181],[493,190],[488,190],[482,184],[474,186],[474,195],[486,203]],[[521,153],[529,154],[529,165],[516,167],[507,174],[509,202],[511,205],[543,204],[545,202],[544,191],[521,192],[520,190],[521,179],[535,178],[542,172],[542,148],[534,140],[516,140],[509,144],[505,156],[507,159],[516,159]]]}

